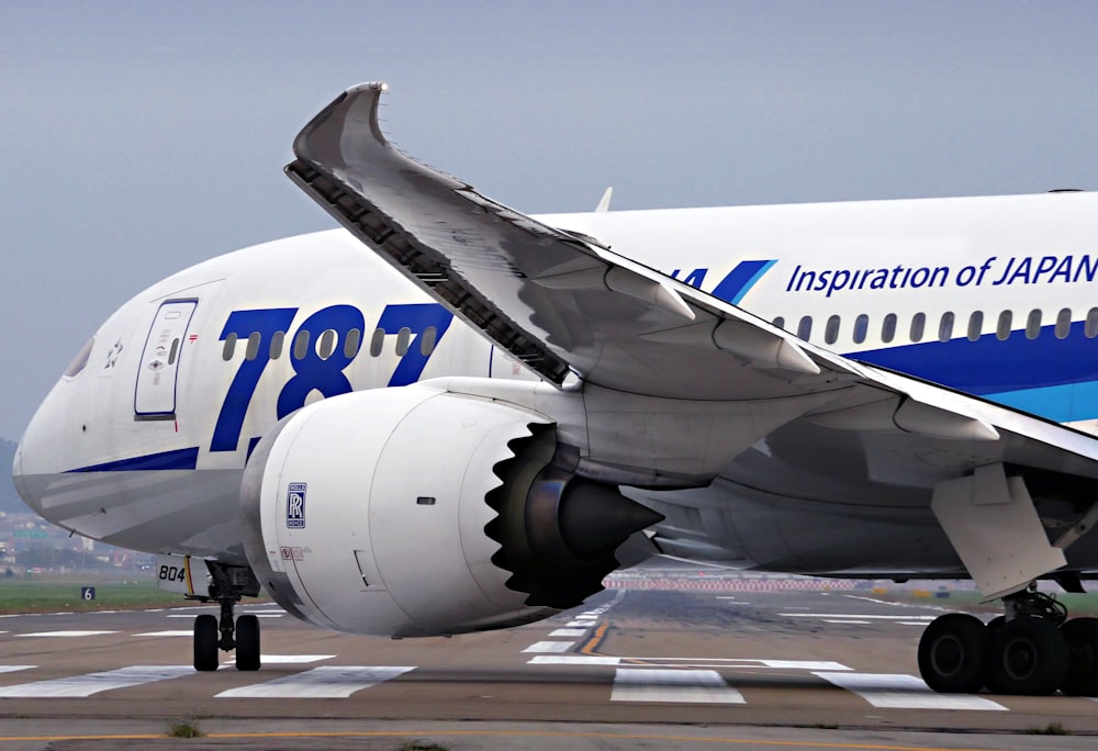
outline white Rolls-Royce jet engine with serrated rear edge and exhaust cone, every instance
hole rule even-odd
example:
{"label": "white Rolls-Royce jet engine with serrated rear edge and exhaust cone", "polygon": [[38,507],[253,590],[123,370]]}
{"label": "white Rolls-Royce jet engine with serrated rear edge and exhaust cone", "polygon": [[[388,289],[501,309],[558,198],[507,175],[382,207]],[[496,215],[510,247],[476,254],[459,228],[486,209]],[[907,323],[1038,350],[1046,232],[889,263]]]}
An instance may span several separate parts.
{"label": "white Rolls-Royce jet engine with serrated rear edge and exhaust cone", "polygon": [[242,486],[245,549],[294,615],[355,634],[515,626],[602,589],[659,520],[574,477],[553,423],[426,386],[344,394],[280,423]]}

